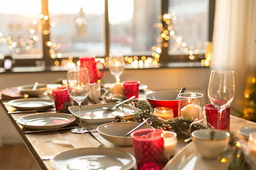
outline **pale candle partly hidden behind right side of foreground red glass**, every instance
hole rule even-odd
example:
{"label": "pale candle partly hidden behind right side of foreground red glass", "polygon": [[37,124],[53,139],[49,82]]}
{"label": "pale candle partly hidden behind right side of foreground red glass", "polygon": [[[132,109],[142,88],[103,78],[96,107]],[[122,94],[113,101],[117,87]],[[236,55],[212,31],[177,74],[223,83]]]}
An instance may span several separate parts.
{"label": "pale candle partly hidden behind right side of foreground red glass", "polygon": [[164,131],[164,154],[166,157],[175,154],[177,146],[176,132]]}

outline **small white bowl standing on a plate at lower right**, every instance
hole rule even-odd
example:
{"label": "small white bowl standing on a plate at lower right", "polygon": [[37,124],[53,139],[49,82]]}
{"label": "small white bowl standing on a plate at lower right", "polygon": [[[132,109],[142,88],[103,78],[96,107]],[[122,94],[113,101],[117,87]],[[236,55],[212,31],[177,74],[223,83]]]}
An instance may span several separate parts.
{"label": "small white bowl standing on a plate at lower right", "polygon": [[[210,140],[210,132],[214,132],[213,140]],[[228,148],[230,133],[223,130],[196,130],[192,132],[193,142],[201,157],[216,159]]]}

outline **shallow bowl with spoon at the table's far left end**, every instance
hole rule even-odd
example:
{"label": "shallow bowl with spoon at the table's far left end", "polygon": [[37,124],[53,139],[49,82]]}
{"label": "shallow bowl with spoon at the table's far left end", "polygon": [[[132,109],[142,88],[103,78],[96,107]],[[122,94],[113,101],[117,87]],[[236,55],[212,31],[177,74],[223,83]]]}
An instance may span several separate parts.
{"label": "shallow bowl with spoon at the table's far left end", "polygon": [[28,96],[41,96],[46,93],[47,84],[38,84],[36,90],[33,90],[35,84],[28,84],[23,86],[18,86],[17,90],[21,91],[22,94],[28,94]]}

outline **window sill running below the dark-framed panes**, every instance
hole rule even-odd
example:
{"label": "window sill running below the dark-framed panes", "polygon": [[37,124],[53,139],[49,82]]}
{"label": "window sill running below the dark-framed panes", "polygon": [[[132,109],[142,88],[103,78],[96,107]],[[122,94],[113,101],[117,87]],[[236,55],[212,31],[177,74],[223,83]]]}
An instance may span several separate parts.
{"label": "window sill running below the dark-framed panes", "polygon": [[[166,69],[166,68],[206,68],[202,67],[200,62],[168,62],[160,63],[156,66],[151,66],[148,68],[134,68],[127,64],[125,69]],[[1,74],[9,73],[28,73],[28,72],[66,72],[67,67],[14,67],[11,71],[6,71],[4,68],[0,69]]]}

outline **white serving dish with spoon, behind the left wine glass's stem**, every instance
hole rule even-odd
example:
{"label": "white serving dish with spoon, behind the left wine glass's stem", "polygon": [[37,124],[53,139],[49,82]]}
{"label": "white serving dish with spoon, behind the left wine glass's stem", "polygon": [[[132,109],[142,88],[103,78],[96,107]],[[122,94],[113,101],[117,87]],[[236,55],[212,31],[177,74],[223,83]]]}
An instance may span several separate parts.
{"label": "white serving dish with spoon, behind the left wine glass's stem", "polygon": [[[121,115],[126,120],[134,117],[134,114],[139,111],[138,108],[129,106],[127,104],[122,104],[118,106],[114,111],[107,111],[102,107],[114,106],[116,103],[105,103],[96,105],[84,105],[82,106],[82,121],[89,124],[94,123],[110,123],[112,122],[114,116]],[[79,107],[70,106],[69,111],[73,113],[76,117],[79,117]]]}

